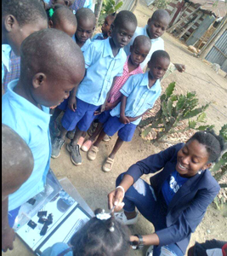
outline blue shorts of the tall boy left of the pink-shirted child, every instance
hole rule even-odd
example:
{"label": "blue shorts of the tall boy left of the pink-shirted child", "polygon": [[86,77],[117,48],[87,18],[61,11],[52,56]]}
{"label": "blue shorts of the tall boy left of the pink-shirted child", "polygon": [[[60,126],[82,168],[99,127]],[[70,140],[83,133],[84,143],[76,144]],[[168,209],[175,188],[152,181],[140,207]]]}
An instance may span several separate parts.
{"label": "blue shorts of the tall boy left of the pink-shirted child", "polygon": [[76,111],[73,112],[70,108],[67,108],[61,119],[61,124],[67,131],[74,130],[76,126],[80,131],[88,131],[95,118],[94,111],[98,110],[98,108],[99,106],[82,102],[77,98]]}

